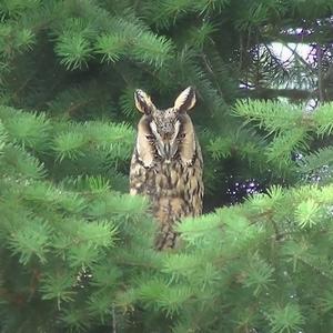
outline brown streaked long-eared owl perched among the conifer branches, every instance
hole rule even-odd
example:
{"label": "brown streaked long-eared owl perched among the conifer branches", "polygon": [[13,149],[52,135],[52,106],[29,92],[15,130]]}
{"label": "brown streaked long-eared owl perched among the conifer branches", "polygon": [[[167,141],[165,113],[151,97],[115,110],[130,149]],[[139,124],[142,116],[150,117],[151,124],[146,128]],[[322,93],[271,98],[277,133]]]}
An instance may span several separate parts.
{"label": "brown streaked long-eared owl perched among the conifer branches", "polygon": [[174,248],[179,239],[174,224],[202,212],[202,154],[188,114],[195,104],[189,87],[172,108],[159,110],[142,90],[134,101],[142,117],[130,168],[130,193],[150,199],[159,223],[155,248]]}

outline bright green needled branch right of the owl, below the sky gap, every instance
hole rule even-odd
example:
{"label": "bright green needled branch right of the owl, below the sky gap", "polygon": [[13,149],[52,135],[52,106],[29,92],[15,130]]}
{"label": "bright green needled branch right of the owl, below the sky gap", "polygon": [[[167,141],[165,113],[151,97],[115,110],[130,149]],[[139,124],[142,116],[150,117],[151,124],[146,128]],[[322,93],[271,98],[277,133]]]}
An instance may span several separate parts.
{"label": "bright green needled branch right of the owl, below the sky gap", "polygon": [[[300,107],[270,101],[239,101],[234,109],[238,117],[245,119],[245,124],[253,122],[264,131],[265,138],[271,140],[264,154],[269,161],[279,163],[280,168],[283,164],[294,168],[293,155],[306,154],[311,143],[315,142],[319,135],[331,134],[332,112],[331,103],[324,104],[317,108],[315,112],[310,113]],[[327,152],[329,148],[317,153],[313,152],[312,157],[316,154],[319,158],[326,153],[326,159],[330,159]],[[314,167],[312,163],[314,161],[310,159],[304,161],[301,159],[299,162],[299,164],[304,165],[304,172],[306,173],[323,165]]]}

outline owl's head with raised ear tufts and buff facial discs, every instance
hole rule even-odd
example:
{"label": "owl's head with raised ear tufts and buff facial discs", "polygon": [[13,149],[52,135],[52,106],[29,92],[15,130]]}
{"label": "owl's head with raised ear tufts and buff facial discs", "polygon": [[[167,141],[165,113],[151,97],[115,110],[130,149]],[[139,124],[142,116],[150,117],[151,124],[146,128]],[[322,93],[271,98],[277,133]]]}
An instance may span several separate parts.
{"label": "owl's head with raised ear tufts and buff facial discs", "polygon": [[186,88],[173,107],[159,110],[142,90],[134,92],[135,105],[143,113],[138,124],[137,154],[144,167],[157,160],[170,163],[180,159],[189,164],[196,153],[195,133],[188,115],[195,104],[195,92]]}

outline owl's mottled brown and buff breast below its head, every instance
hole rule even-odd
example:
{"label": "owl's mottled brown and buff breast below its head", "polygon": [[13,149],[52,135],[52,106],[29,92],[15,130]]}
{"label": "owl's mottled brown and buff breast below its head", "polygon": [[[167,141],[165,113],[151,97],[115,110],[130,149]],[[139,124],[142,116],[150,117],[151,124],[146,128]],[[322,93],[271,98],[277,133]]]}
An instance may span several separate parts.
{"label": "owl's mottled brown and buff breast below its head", "polygon": [[155,218],[162,223],[201,214],[203,183],[200,159],[191,165],[180,161],[159,161],[150,169],[132,161],[130,181],[131,193],[148,195]]}

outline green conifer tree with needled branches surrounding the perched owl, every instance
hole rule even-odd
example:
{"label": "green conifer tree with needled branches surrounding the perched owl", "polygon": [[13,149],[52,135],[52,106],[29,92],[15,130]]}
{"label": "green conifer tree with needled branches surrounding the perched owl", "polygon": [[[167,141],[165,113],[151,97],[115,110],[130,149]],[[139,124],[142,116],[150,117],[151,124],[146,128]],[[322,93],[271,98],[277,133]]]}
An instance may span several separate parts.
{"label": "green conifer tree with needled branches surrounding the perched owl", "polygon": [[[2,1],[0,331],[331,332],[332,9]],[[300,39],[312,62],[272,53]],[[133,91],[167,107],[190,84],[208,213],[157,252],[127,194]]]}

